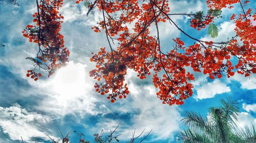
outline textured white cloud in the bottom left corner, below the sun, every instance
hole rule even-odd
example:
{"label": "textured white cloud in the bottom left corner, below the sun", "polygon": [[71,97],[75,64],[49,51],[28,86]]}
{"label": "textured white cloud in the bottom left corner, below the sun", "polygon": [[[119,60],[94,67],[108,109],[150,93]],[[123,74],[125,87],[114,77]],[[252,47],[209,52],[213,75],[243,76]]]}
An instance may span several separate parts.
{"label": "textured white cloud in the bottom left corner, below the sun", "polygon": [[[21,140],[20,136],[22,136],[25,141],[32,141],[33,137],[49,140],[46,135],[49,132],[42,131],[42,125],[50,123],[52,121],[50,117],[30,112],[18,104],[6,108],[0,107],[0,114],[0,127],[11,139]],[[57,139],[54,136],[51,137]]]}

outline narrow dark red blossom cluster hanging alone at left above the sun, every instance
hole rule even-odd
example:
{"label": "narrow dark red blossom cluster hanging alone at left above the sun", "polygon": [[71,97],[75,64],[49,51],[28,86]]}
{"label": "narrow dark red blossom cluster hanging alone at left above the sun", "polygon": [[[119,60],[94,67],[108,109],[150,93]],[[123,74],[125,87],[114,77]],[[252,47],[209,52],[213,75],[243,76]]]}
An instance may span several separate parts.
{"label": "narrow dark red blossom cluster hanging alone at left above the sun", "polygon": [[[56,69],[65,66],[70,54],[64,46],[63,36],[59,33],[63,16],[58,10],[62,6],[63,0],[44,0],[37,2],[37,12],[33,14],[35,25],[27,25],[23,36],[30,42],[38,45],[38,53],[34,62],[34,69],[31,77],[37,80],[40,76],[36,73],[36,68],[48,72],[52,75]],[[41,75],[41,74],[39,74]]]}

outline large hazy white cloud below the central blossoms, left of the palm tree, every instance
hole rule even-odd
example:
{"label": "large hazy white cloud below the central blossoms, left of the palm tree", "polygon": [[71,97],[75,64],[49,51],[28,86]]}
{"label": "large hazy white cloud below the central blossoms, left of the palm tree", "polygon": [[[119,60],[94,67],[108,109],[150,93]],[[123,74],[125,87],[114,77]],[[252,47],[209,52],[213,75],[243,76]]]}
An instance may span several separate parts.
{"label": "large hazy white cloud below the central blossoms, left of the palm tree", "polygon": [[[120,125],[119,130],[122,132],[120,136],[123,139],[129,139],[136,128],[136,135],[141,133],[145,129],[147,134],[153,129],[151,136],[154,136],[154,140],[158,139],[174,139],[175,132],[180,128],[180,108],[177,105],[168,106],[161,104],[161,100],[156,96],[156,88],[153,84],[143,84],[143,80],[138,79],[136,73],[132,70],[127,71],[128,88],[131,92],[131,96],[127,97],[124,101],[120,102],[120,105],[112,107],[119,113],[132,113],[131,122],[125,125],[123,122]],[[140,84],[140,83],[141,84]],[[117,101],[118,102],[118,101]],[[115,121],[115,124],[111,122],[111,126],[108,126],[104,122],[100,122],[97,125],[97,129],[114,128],[119,121]]]}

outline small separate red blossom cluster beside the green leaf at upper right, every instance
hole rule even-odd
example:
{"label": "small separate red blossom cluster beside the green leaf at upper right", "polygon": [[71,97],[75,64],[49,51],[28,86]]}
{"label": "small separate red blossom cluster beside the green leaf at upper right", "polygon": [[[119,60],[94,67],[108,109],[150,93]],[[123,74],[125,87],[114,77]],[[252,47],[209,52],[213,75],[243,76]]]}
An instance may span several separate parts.
{"label": "small separate red blossom cluster beside the green leaf at upper right", "polygon": [[214,16],[210,16],[210,15],[206,15],[204,20],[200,18],[198,19],[193,18],[192,20],[190,20],[190,26],[194,27],[199,31],[202,28],[205,28],[206,25],[208,25],[210,22],[212,22],[212,19],[214,19]]}

